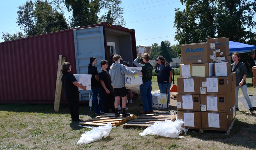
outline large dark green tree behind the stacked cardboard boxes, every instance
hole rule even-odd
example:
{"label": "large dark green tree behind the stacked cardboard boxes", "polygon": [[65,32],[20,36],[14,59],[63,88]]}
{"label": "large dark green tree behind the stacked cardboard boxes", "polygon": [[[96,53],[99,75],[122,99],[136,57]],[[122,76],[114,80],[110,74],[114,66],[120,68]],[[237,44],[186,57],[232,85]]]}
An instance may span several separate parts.
{"label": "large dark green tree behind the stacked cardboard boxes", "polygon": [[[180,0],[186,9],[175,9],[175,40],[179,45],[206,42],[208,38],[227,37],[242,42],[255,37],[251,31],[256,2],[247,0]],[[180,48],[178,54],[180,56]]]}

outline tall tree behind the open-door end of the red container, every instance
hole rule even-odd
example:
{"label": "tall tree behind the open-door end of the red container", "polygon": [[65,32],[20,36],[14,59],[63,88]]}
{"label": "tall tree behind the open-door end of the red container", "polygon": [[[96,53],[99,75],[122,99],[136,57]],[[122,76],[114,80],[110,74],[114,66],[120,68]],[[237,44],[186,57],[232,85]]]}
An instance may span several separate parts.
{"label": "tall tree behind the open-door end of the red container", "polygon": [[121,0],[63,0],[73,12],[72,25],[76,27],[108,22],[124,26]]}

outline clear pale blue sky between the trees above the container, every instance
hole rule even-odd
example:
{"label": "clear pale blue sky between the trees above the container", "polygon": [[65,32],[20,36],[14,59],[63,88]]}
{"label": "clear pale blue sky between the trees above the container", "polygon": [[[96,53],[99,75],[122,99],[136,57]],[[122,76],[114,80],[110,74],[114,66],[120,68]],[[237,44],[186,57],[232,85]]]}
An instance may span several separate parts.
{"label": "clear pale blue sky between the trees above the container", "polygon": [[[21,32],[17,27],[18,6],[27,0],[1,1],[0,5],[0,33],[9,32],[13,35]],[[34,0],[32,0],[34,2]],[[174,40],[175,9],[185,9],[179,0],[122,0],[123,18],[125,28],[134,29],[136,45],[151,46],[154,43],[161,45],[162,41],[170,41],[171,45],[177,44]],[[0,38],[0,42],[4,42]]]}

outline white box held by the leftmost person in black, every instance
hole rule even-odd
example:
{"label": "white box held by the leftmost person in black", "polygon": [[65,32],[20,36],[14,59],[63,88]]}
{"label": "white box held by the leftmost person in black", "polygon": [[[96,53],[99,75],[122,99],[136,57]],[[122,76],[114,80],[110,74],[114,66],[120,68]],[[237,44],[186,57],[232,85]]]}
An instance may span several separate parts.
{"label": "white box held by the leftmost person in black", "polygon": [[[92,75],[74,74],[74,76],[80,84],[82,84],[83,86],[87,86],[86,90],[91,90]],[[83,89],[78,87],[78,90]]]}

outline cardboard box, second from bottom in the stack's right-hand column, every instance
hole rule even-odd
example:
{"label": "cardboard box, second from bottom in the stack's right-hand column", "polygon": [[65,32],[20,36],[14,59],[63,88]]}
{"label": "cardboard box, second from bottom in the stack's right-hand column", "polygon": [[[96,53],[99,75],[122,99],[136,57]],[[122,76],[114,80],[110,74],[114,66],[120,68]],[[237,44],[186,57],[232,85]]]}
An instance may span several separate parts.
{"label": "cardboard box, second from bottom in the stack's right-hand column", "polygon": [[226,112],[235,102],[235,91],[227,95],[200,95],[201,111]]}

